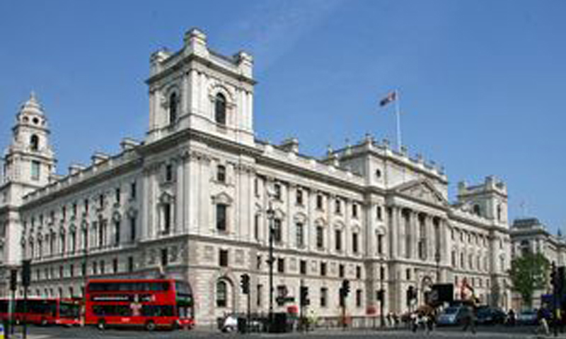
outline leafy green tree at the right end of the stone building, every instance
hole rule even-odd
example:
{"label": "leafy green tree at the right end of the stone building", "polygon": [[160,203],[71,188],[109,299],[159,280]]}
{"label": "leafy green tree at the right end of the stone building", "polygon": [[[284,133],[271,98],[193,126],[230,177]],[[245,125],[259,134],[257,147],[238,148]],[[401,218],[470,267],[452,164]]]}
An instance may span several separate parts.
{"label": "leafy green tree at the right end of the stone building", "polygon": [[549,267],[548,259],[540,253],[528,252],[511,261],[509,276],[512,289],[529,307],[532,306],[533,292],[546,287]]}

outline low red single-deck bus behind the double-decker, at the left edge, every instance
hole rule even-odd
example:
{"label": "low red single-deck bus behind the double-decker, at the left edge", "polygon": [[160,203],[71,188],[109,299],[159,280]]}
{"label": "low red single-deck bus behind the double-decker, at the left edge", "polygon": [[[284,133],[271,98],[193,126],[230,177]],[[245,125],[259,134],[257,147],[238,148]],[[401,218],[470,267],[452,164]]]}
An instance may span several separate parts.
{"label": "low red single-deck bus behind the double-decker, at the left edge", "polygon": [[0,299],[0,319],[2,321],[13,320],[21,323],[36,325],[64,325],[75,326],[80,323],[81,304],[77,299],[54,299],[35,298],[28,299],[27,309],[24,307],[23,299],[16,299],[13,306],[13,314],[10,318],[10,300]]}

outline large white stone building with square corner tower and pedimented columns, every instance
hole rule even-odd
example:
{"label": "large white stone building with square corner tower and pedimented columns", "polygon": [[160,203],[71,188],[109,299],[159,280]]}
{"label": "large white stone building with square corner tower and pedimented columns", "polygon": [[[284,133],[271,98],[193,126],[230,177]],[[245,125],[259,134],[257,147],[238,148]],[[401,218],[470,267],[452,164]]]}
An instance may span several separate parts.
{"label": "large white stone building with square corner tower and pedimented columns", "polygon": [[[32,259],[30,294],[80,296],[88,278],[187,280],[197,322],[269,307],[269,230],[275,297],[299,298],[338,316],[407,311],[437,282],[464,278],[485,303],[509,304],[507,188],[487,177],[448,200],[443,169],[366,136],[321,159],[299,141],[255,138],[253,58],[209,49],[203,32],[151,55],[149,129],[117,155],[54,174],[47,114],[32,96],[16,117],[0,186],[1,291],[8,269]],[[269,213],[268,213],[269,212]],[[458,289],[456,288],[456,291]],[[21,291],[20,291],[21,292]],[[456,292],[458,294],[458,292]],[[293,304],[292,302],[290,304]],[[275,304],[276,311],[290,305]]]}

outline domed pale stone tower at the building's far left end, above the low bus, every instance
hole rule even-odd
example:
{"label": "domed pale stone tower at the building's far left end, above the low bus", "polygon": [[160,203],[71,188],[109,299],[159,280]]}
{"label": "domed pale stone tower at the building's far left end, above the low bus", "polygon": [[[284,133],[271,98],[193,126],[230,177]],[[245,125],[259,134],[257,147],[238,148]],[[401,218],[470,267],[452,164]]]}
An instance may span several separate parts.
{"label": "domed pale stone tower at the building's far left end, above the low bus", "polygon": [[23,196],[51,182],[57,161],[49,143],[47,118],[34,93],[16,115],[12,133],[0,182],[0,280],[6,278],[6,268],[20,265],[21,246],[7,244],[20,241],[18,207]]}

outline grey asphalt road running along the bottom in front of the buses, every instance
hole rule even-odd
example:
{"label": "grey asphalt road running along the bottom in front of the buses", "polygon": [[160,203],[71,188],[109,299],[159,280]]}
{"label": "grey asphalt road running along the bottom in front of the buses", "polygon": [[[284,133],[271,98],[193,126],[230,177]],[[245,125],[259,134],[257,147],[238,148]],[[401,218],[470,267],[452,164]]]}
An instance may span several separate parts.
{"label": "grey asphalt road running along the bottom in front of the buses", "polygon": [[[18,335],[14,338],[21,338],[21,330],[16,331]],[[98,331],[96,328],[60,328],[60,327],[37,327],[29,326],[28,339],[185,339],[185,338],[223,338],[223,339],[236,339],[236,338],[251,338],[251,339],[270,339],[270,338],[284,338],[284,339],[323,339],[323,338],[352,338],[352,339],[369,339],[369,338],[493,338],[493,339],[511,339],[511,338],[537,338],[534,335],[534,328],[531,326],[507,328],[503,326],[489,326],[478,327],[476,334],[462,332],[461,328],[439,328],[427,335],[422,331],[412,333],[405,330],[395,331],[371,331],[371,330],[318,330],[309,333],[284,333],[284,334],[270,334],[270,333],[251,333],[248,335],[240,335],[238,333],[220,333],[219,331],[212,331],[209,329],[194,330],[194,331],[134,331],[131,329],[108,329],[106,331]],[[560,338],[566,338],[566,333],[559,334]],[[550,337],[549,337],[550,338]],[[553,338],[553,337],[552,337]]]}

